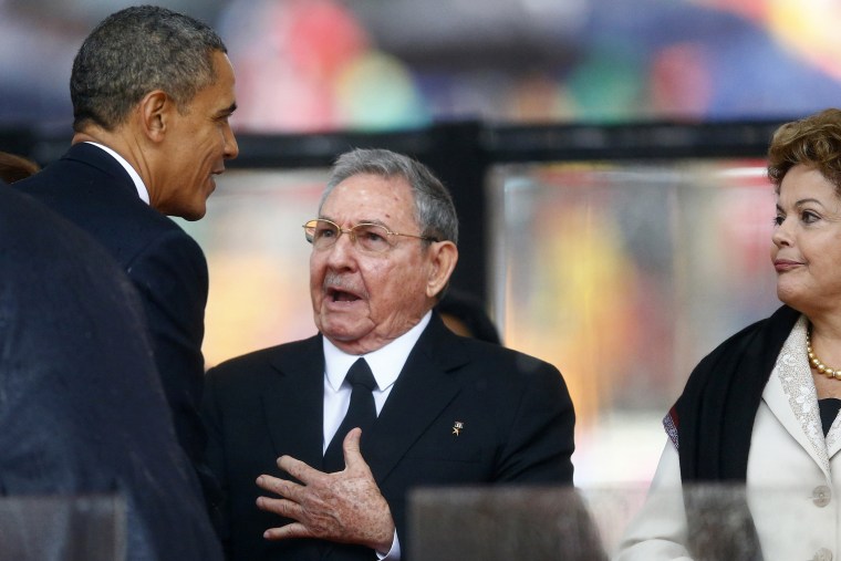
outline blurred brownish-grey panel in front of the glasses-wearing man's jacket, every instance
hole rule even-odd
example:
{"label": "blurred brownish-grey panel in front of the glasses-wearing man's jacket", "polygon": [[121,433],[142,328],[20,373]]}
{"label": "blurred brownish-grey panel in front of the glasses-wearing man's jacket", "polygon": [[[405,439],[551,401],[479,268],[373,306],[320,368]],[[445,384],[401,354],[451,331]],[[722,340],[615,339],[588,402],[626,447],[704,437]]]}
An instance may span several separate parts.
{"label": "blurred brownish-grey panel in front of the glasses-wearing man's jacket", "polygon": [[572,487],[418,489],[409,516],[414,561],[608,559]]}

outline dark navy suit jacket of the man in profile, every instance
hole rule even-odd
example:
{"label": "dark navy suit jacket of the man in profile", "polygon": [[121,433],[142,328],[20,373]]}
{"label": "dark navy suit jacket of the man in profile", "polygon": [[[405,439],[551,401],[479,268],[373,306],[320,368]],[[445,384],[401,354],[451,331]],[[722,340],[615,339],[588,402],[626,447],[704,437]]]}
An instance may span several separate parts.
{"label": "dark navy suit jacket of the man in profile", "polygon": [[218,500],[200,464],[205,432],[198,409],[208,290],[201,249],[141,200],[118,162],[90,144],[72,146],[60,160],[13,187],[86,230],[128,274],[141,294],[178,441],[200,472],[208,500]]}

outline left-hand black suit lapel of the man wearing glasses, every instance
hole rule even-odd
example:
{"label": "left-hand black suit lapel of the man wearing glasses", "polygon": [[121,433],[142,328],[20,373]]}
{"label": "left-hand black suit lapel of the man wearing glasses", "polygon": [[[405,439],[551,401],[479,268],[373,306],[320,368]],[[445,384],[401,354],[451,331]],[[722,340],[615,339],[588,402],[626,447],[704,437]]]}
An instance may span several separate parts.
{"label": "left-hand black suit lapel of the man wearing glasses", "polygon": [[321,469],[324,352],[320,335],[301,345],[272,357],[276,372],[262,388],[263,411],[276,455],[287,454]]}

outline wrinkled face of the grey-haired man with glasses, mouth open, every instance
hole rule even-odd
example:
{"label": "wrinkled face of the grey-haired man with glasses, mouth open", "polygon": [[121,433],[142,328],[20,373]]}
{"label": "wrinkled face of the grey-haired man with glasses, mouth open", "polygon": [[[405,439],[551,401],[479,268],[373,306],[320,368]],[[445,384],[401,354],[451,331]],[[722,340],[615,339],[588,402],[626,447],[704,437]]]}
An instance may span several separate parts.
{"label": "wrinkled face of the grey-haired man with glasses, mouth open", "polygon": [[[356,175],[340,183],[324,201],[319,218],[344,229],[360,222],[419,235],[414,199],[402,177]],[[423,240],[388,236],[391,249],[363,251],[342,233],[326,249],[313,247],[310,294],[315,325],[343,351],[363,354],[407,332],[429,309],[430,251]]]}

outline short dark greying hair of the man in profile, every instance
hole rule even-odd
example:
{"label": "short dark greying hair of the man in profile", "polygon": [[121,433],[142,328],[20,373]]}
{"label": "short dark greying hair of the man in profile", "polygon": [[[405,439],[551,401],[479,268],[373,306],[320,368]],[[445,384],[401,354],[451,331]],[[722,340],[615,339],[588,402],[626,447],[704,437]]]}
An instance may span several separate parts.
{"label": "short dark greying hair of the man in profile", "polygon": [[73,129],[125,122],[144,95],[163,90],[183,111],[216,80],[212,55],[228,50],[205,23],[166,8],[138,6],[105,18],[73,61]]}

